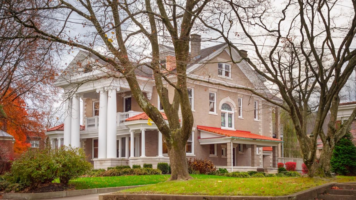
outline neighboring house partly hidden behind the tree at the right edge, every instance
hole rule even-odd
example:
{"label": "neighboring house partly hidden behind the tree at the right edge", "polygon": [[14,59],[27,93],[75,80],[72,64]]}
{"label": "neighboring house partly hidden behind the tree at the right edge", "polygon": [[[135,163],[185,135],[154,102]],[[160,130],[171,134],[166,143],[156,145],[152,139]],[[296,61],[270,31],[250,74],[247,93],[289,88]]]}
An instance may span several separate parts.
{"label": "neighboring house partly hidden behind the tree at the right edge", "polygon": [[[356,101],[339,104],[339,108],[337,108],[336,127],[340,126],[342,121],[349,119],[355,107],[356,107]],[[354,144],[356,145],[356,119],[352,121],[352,124],[350,126],[350,132],[354,137]],[[323,142],[319,139],[316,144],[318,145],[318,148],[316,150],[316,157],[319,158],[321,149],[323,148]]]}

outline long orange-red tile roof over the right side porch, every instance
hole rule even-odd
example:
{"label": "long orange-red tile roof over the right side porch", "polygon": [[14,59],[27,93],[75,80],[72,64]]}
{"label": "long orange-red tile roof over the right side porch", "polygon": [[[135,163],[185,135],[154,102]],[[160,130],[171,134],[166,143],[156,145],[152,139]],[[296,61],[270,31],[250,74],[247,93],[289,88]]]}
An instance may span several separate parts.
{"label": "long orange-red tile roof over the right side porch", "polygon": [[224,130],[221,128],[209,127],[209,126],[197,126],[198,130],[208,131],[210,133],[216,133],[219,135],[224,135],[227,137],[244,137],[249,139],[257,140],[272,140],[272,141],[282,141],[273,137],[267,137],[263,135],[253,134],[250,131],[240,131],[240,130]]}

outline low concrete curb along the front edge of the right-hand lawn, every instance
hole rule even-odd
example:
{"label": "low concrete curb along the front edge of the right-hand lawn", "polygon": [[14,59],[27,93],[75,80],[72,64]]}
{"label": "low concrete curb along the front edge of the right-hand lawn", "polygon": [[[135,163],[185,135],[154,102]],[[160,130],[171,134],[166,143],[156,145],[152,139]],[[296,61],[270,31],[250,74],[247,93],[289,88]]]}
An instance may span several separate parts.
{"label": "low concrete curb along the front edge of the right-hand lawn", "polygon": [[299,191],[285,196],[208,196],[208,195],[169,195],[169,194],[101,194],[99,200],[308,200],[314,199],[336,182]]}

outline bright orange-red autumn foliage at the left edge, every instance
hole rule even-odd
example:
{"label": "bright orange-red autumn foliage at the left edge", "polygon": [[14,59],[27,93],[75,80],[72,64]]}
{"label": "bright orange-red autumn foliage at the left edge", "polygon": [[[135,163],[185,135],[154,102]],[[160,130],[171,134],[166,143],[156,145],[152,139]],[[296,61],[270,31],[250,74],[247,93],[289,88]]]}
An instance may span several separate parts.
{"label": "bright orange-red autumn foliage at the left edge", "polygon": [[[14,100],[6,101],[8,99]],[[15,155],[22,153],[30,147],[27,137],[41,137],[44,140],[45,134],[43,130],[45,128],[41,124],[41,121],[45,113],[26,109],[26,103],[21,97],[0,99],[0,105],[5,115],[1,117],[0,127],[15,137]]]}

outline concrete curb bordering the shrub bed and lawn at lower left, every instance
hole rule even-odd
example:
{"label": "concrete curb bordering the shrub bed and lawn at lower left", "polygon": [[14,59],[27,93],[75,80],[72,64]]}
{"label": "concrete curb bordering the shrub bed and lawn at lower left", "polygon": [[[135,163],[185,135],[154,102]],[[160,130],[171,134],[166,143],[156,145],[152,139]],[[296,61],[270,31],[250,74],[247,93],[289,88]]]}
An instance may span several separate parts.
{"label": "concrete curb bordering the shrub bed and lawn at lower left", "polygon": [[68,191],[58,191],[58,192],[48,192],[48,193],[5,193],[2,198],[3,199],[47,199],[47,198],[58,198],[58,197],[66,197],[66,196],[110,193],[110,192],[130,189],[130,188],[136,188],[140,186],[145,186],[145,185],[133,185],[133,186],[114,187],[114,188],[96,188],[96,189],[87,189],[87,190],[68,190]]}

